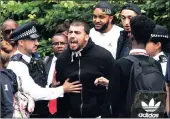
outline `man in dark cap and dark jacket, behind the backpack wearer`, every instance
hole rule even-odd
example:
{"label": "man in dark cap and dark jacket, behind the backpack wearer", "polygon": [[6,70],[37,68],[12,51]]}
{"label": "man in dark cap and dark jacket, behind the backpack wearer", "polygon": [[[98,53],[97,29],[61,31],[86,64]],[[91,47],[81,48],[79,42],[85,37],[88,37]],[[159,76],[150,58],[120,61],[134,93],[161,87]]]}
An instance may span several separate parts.
{"label": "man in dark cap and dark jacket, behind the backpack wearer", "polygon": [[133,3],[126,4],[122,7],[120,11],[120,17],[124,30],[120,32],[120,36],[118,39],[116,59],[129,55],[129,51],[132,48],[131,40],[129,37],[131,32],[130,20],[132,17],[140,14],[140,8]]}

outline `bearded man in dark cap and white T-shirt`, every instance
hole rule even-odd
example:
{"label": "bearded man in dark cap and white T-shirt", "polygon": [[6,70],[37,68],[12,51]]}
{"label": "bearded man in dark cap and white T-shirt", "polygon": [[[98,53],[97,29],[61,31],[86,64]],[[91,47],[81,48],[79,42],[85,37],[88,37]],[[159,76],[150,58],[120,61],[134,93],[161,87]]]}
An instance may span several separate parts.
{"label": "bearded man in dark cap and white T-shirt", "polygon": [[113,24],[113,14],[113,6],[107,1],[100,1],[93,11],[94,28],[90,30],[90,37],[116,58],[117,40],[123,29]]}

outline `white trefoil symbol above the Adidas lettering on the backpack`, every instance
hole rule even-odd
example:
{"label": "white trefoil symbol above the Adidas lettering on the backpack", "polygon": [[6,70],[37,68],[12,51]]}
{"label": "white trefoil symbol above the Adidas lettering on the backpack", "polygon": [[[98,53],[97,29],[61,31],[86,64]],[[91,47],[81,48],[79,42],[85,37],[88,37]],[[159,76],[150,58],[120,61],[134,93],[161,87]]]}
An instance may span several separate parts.
{"label": "white trefoil symbol above the Adidas lettering on the backpack", "polygon": [[161,104],[161,101],[159,101],[158,103],[155,104],[155,101],[153,98],[149,101],[149,105],[147,105],[145,102],[141,101],[142,108],[146,112],[155,112],[159,108],[160,104]]}

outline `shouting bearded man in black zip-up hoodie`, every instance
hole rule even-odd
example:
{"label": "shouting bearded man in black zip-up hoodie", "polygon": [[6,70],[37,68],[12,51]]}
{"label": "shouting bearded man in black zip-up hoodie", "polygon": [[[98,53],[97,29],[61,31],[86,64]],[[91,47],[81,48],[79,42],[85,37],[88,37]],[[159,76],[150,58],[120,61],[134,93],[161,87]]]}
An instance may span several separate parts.
{"label": "shouting bearded man in black zip-up hoodie", "polygon": [[56,62],[56,80],[80,81],[79,94],[67,94],[58,99],[58,115],[72,118],[95,118],[101,115],[106,87],[94,85],[96,78],[104,76],[113,80],[114,58],[111,53],[89,38],[90,27],[80,21],[71,23],[68,32],[69,47]]}

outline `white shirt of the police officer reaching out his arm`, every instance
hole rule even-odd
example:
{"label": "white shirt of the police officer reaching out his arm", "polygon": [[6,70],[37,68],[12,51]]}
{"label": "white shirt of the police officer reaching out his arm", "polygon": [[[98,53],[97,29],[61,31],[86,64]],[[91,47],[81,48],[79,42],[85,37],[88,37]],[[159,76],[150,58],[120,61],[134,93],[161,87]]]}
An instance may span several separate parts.
{"label": "white shirt of the police officer reaching out his arm", "polygon": [[[19,51],[16,51],[15,54],[22,54]],[[26,62],[30,62],[31,57],[22,54],[23,59]],[[57,88],[43,88],[37,85],[32,77],[29,75],[29,70],[26,64],[20,61],[10,61],[8,64],[8,69],[13,70],[17,77],[21,78],[22,89],[24,92],[27,92],[36,100],[52,100],[58,97],[63,97],[64,89],[63,86]]]}

